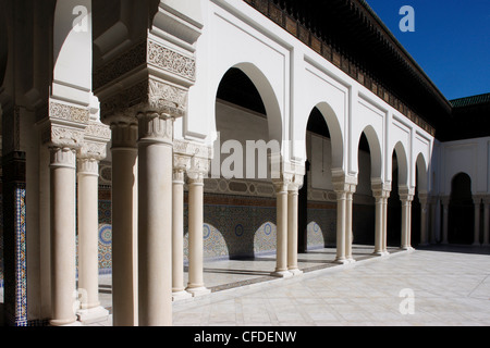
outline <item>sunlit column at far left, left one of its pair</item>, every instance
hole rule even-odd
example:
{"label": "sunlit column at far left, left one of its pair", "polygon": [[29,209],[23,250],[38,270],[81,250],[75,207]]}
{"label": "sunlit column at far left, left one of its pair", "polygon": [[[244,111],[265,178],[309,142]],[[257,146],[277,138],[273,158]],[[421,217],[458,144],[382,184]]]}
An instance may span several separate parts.
{"label": "sunlit column at far left, left one of its pair", "polygon": [[52,326],[76,321],[75,175],[76,151],[51,150],[51,320]]}

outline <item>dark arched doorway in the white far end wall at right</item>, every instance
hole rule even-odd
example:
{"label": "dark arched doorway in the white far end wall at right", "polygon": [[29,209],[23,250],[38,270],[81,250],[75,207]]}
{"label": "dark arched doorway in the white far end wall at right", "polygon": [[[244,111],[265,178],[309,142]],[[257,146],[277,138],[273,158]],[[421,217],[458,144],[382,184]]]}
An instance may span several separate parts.
{"label": "dark arched doorway in the white far end wall at right", "polygon": [[474,241],[475,204],[471,178],[466,173],[456,174],[451,183],[448,238],[450,244],[469,245]]}

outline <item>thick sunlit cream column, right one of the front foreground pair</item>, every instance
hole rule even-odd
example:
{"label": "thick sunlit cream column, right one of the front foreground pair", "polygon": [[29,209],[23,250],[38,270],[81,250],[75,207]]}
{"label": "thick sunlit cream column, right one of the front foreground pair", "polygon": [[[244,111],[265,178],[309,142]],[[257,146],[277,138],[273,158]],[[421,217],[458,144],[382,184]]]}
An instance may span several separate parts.
{"label": "thick sunlit cream column, right one of the front foreground pair", "polygon": [[173,119],[144,112],[138,139],[138,324],[172,325]]}

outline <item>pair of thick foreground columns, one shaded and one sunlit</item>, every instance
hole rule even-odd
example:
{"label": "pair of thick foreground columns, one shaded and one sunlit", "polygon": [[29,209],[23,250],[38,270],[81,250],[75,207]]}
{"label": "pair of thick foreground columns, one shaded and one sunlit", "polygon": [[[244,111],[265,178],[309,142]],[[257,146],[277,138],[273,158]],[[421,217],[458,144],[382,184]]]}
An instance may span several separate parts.
{"label": "pair of thick foreground columns, one shaded and one sunlit", "polygon": [[173,117],[140,109],[109,120],[114,326],[172,323]]}

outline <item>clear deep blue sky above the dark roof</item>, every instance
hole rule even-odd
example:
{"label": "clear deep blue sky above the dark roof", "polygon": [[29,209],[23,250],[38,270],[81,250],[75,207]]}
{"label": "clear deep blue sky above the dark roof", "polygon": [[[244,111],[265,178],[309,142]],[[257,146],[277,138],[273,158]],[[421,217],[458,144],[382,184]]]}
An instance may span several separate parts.
{"label": "clear deep blue sky above the dark roof", "polygon": [[[366,0],[448,98],[490,92],[490,0]],[[415,32],[403,33],[403,5]]]}

